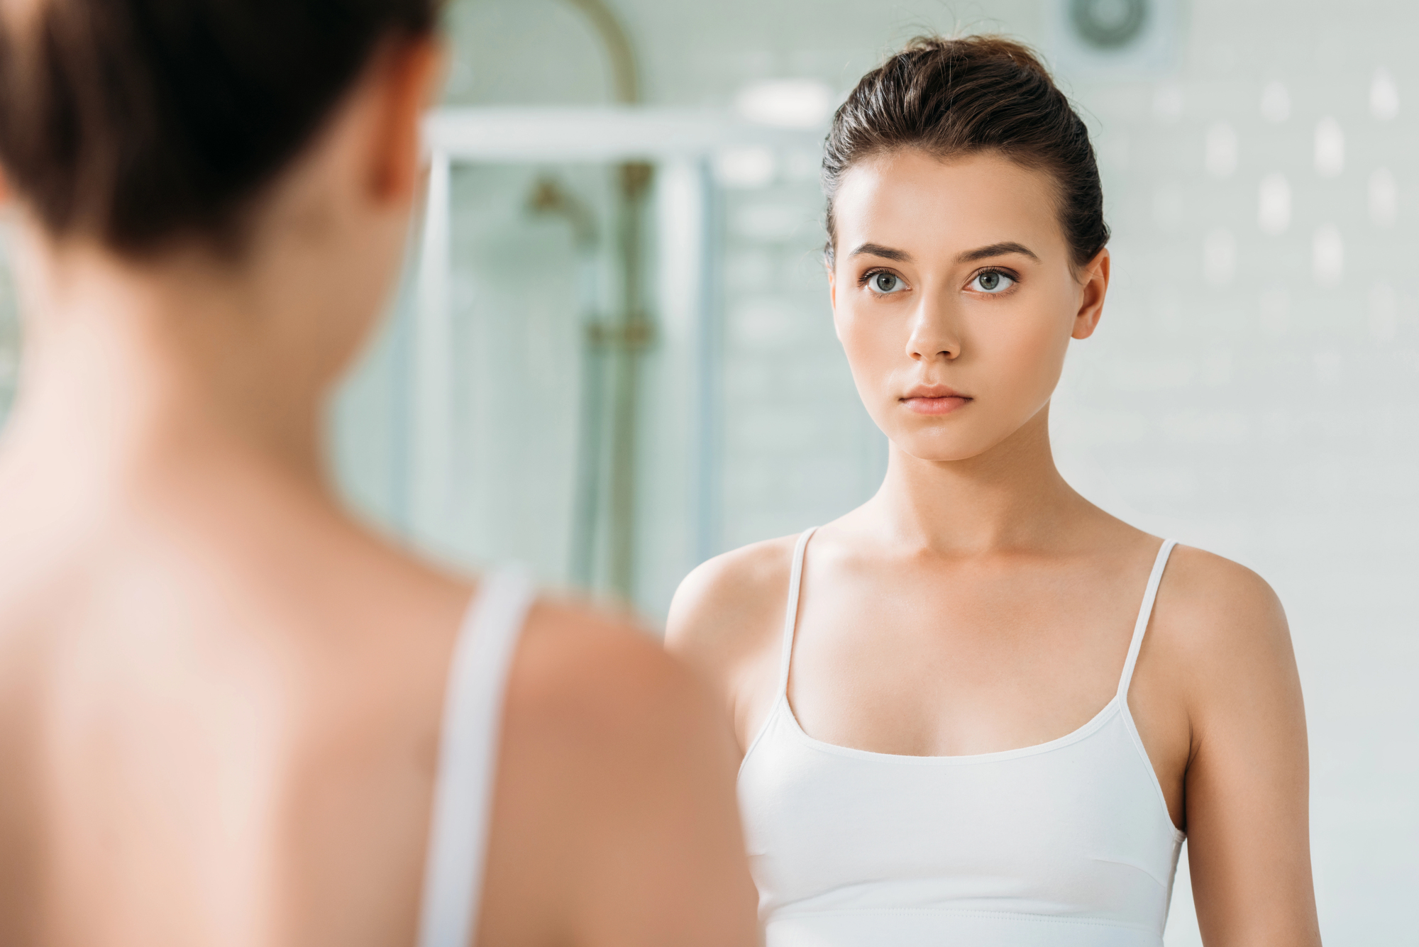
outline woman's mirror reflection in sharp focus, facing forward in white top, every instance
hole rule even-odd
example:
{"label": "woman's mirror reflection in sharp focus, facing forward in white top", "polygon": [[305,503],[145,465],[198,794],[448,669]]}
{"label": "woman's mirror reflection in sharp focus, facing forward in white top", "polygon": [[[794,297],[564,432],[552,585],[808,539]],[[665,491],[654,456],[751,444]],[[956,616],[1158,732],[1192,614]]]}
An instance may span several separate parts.
{"label": "woman's mirror reflection in sharp focus, facing forward in white top", "polygon": [[1023,47],[918,40],[839,109],[823,179],[887,478],[701,566],[668,634],[739,739],[769,947],[1156,947],[1183,832],[1209,947],[1318,943],[1276,595],[1050,456],[1110,276],[1084,123]]}

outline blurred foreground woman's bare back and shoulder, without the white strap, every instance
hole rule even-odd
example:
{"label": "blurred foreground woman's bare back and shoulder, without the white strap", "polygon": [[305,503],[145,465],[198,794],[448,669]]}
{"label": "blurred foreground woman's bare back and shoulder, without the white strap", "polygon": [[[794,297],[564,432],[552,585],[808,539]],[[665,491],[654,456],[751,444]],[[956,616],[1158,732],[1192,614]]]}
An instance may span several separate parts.
{"label": "blurred foreground woman's bare back and shoulder, without the white strap", "polygon": [[[240,455],[135,481],[71,505],[4,491],[0,940],[410,943],[474,588]],[[651,642],[535,607],[478,943],[748,943],[728,757]],[[657,825],[648,792],[704,818]]]}

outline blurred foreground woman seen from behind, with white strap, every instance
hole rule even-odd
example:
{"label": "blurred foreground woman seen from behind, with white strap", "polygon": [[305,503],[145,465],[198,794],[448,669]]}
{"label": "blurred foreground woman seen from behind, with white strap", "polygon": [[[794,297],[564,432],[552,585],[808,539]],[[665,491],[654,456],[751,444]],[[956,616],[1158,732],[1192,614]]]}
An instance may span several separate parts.
{"label": "blurred foreground woman seen from behind, with white strap", "polygon": [[322,469],[419,190],[433,17],[0,3],[3,944],[755,943],[691,675],[390,547]]}

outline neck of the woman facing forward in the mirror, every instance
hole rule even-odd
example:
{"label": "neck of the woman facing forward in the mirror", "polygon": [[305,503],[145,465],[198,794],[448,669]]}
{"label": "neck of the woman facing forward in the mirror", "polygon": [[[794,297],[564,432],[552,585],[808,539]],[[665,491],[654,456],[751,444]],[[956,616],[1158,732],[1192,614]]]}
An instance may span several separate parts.
{"label": "neck of the woman facing forward in the mirror", "polygon": [[891,445],[887,476],[861,512],[893,543],[964,554],[1054,544],[1095,508],[1054,466],[1046,405],[962,461],[924,461]]}

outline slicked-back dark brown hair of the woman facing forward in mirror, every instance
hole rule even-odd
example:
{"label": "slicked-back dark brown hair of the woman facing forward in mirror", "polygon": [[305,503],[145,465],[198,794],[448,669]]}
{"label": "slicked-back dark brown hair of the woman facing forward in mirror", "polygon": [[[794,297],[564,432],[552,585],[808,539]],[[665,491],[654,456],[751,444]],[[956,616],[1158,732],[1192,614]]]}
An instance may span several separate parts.
{"label": "slicked-back dark brown hair of the woman facing forward in mirror", "polygon": [[823,153],[829,265],[837,242],[833,197],[843,174],[907,147],[942,159],[998,152],[1049,172],[1074,265],[1108,242],[1088,129],[1039,58],[1013,40],[918,37],[863,77],[833,116]]}

